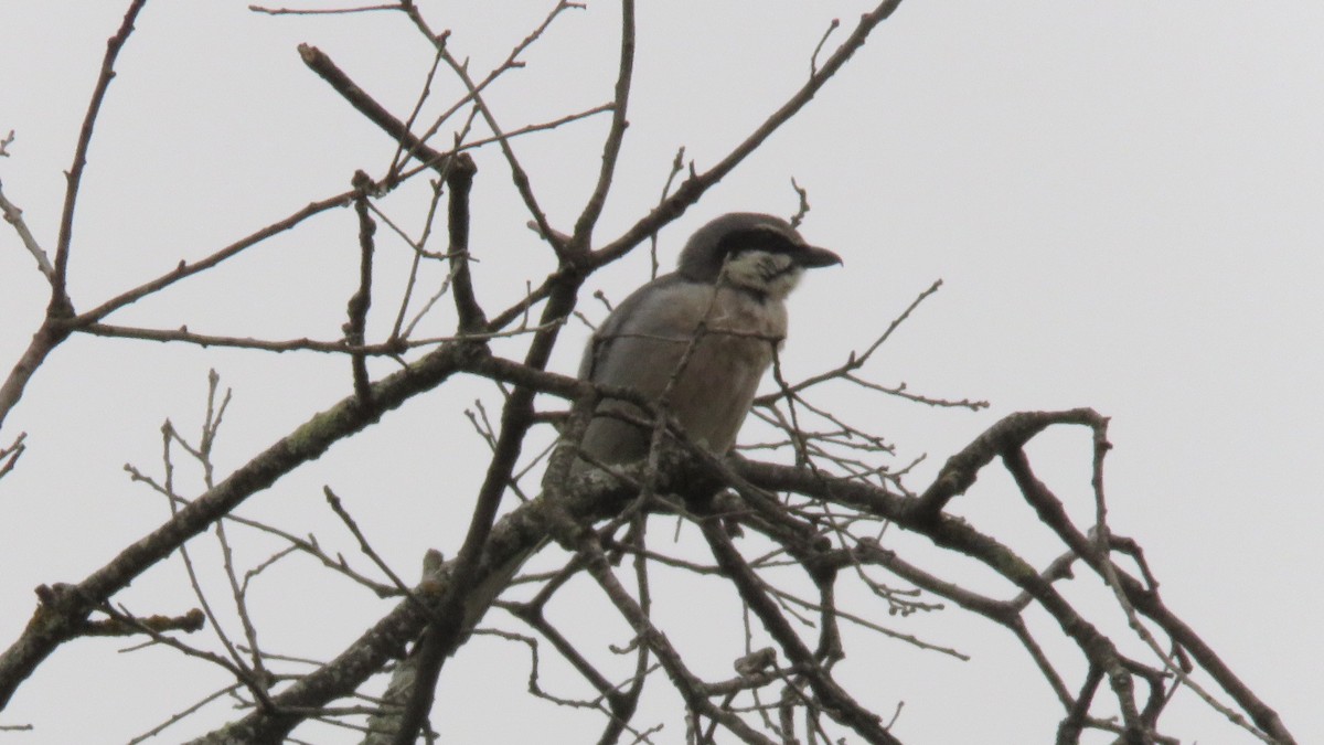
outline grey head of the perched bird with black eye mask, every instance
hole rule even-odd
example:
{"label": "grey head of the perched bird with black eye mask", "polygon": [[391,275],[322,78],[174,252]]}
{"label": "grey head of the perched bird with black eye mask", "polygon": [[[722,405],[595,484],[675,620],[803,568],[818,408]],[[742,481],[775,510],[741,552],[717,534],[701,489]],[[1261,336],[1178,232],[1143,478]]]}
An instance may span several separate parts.
{"label": "grey head of the perched bird with black eye mask", "polygon": [[731,212],[694,233],[681,252],[677,270],[695,282],[722,280],[782,300],[796,289],[805,269],[833,264],[841,264],[841,257],[809,245],[781,217]]}

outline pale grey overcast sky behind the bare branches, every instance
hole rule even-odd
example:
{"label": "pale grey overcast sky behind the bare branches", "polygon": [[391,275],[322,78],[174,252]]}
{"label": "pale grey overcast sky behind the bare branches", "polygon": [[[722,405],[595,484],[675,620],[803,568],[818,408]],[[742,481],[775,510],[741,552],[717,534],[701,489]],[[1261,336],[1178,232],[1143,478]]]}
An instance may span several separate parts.
{"label": "pale grey overcast sky behind the bare branches", "polygon": [[[61,171],[120,5],[82,4],[70,13],[61,4],[5,0],[0,8],[0,135],[16,131],[0,180],[48,248]],[[430,62],[404,19],[273,19],[245,5],[150,3],[144,11],[118,65],[81,195],[70,269],[79,308],[348,188],[355,168],[380,172],[389,162],[389,139],[310,73],[295,45],[322,48],[404,114]],[[453,29],[451,48],[486,70],[551,3],[421,5],[437,28]],[[643,5],[632,126],[600,240],[655,203],[678,147],[704,168],[743,139],[802,82],[829,20],[851,28],[867,4]],[[587,12],[560,19],[524,56],[528,66],[490,93],[502,123],[515,129],[606,102],[616,17],[612,3],[591,0]],[[883,347],[867,376],[933,396],[986,399],[990,410],[937,411],[850,391],[841,395],[857,403],[842,406],[896,443],[899,460],[928,453],[914,487],[1008,412],[1090,406],[1111,416],[1112,529],[1147,547],[1170,607],[1301,742],[1324,741],[1316,701],[1324,663],[1321,40],[1317,0],[908,0],[802,115],[659,241],[670,264],[688,232],[712,216],[789,215],[790,178],[808,190],[813,209],[802,232],[841,253],[845,268],[817,273],[793,297],[790,376],[862,349],[941,278],[941,292]],[[445,85],[453,94],[453,82]],[[516,146],[553,227],[571,228],[597,174],[605,122]],[[523,227],[527,215],[499,154],[479,152],[478,166],[477,280],[514,298],[552,261]],[[416,229],[417,212],[401,213]],[[32,257],[8,225],[0,228],[0,365],[8,370],[36,329],[45,293]],[[384,277],[401,276],[402,256],[399,247],[393,258],[384,249]],[[355,262],[352,215],[338,211],[113,319],[332,339]],[[604,272],[593,289],[620,300],[646,276],[641,253]],[[384,315],[379,329],[389,326]],[[563,372],[573,372],[588,331],[576,325],[571,333],[556,358]],[[30,448],[0,481],[4,644],[32,612],[32,587],[81,579],[166,517],[122,465],[160,471],[159,426],[169,416],[197,427],[209,369],[236,396],[217,445],[222,471],[348,391],[343,361],[316,355],[93,338],[61,347],[0,432],[8,444],[26,431]],[[335,463],[301,469],[245,509],[336,534],[319,508],[320,485],[330,483],[369,532],[389,537],[387,551],[400,567],[416,566],[428,546],[453,551],[467,502],[429,497],[437,459],[457,494],[481,476],[462,468],[473,471],[486,452],[459,414],[475,390],[391,415],[332,451]],[[1049,433],[1030,455],[1074,500],[1075,514],[1090,514],[1087,435]],[[1039,526],[1005,480],[982,480],[953,506],[1026,542],[1033,558],[1054,555],[1037,542]],[[348,540],[344,550],[352,551]],[[177,567],[162,569],[123,599],[140,612],[181,612],[189,606],[180,583]],[[301,604],[312,610],[270,623],[319,623],[318,602],[310,591]],[[320,611],[347,626],[328,624],[320,644],[310,639],[291,654],[339,651],[381,606]],[[911,652],[879,652],[875,675],[894,699],[874,704],[887,711],[906,699],[896,729],[903,740],[1050,737],[1058,713],[1047,687],[1023,663],[1009,663],[1022,665],[1023,685],[998,667],[1016,658],[1005,634],[981,636],[978,623],[959,620],[916,623],[911,631],[931,631],[974,660],[911,673],[900,667]],[[115,648],[81,642],[60,650],[0,715],[0,724],[37,730],[7,738],[85,741],[86,725],[61,715],[77,700],[73,708],[99,722],[105,741],[123,741],[158,721],[135,707],[142,696],[158,696],[160,707],[148,713],[164,716],[221,680],[183,687],[156,672],[168,652]],[[461,664],[477,663],[457,660],[457,676],[470,669]],[[199,665],[180,669],[192,675]],[[951,716],[957,696],[980,695],[1014,704],[977,721]],[[220,711],[211,721],[228,716]],[[502,741],[504,730],[467,732],[463,717],[455,721],[454,741]],[[1196,704],[1174,705],[1165,721],[1184,741],[1251,741]]]}

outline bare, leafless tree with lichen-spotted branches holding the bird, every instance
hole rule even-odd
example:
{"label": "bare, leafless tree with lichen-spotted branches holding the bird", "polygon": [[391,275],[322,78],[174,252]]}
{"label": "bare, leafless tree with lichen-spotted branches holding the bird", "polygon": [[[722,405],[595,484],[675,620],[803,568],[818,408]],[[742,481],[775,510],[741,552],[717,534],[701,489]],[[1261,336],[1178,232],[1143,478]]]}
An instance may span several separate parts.
{"label": "bare, leafless tree with lichen-spotted branches holding the bird", "polygon": [[[552,5],[504,62],[485,74],[477,74],[457,58],[448,46],[449,32],[440,32],[408,0],[344,11],[254,7],[254,12],[271,15],[395,13],[410,33],[432,45],[432,70],[417,105],[405,113],[380,103],[371,90],[355,82],[352,70],[338,66],[327,53],[311,45],[299,48],[307,68],[395,143],[393,158],[380,172],[347,174],[350,187],[339,194],[312,199],[285,219],[91,305],[73,297],[68,284],[75,205],[89,143],[115,76],[117,58],[128,44],[144,4],[132,1],[110,38],[68,171],[58,237],[52,251],[33,236],[19,207],[0,194],[5,220],[36,258],[50,288],[44,321],[0,387],[0,423],[20,403],[52,351],[89,334],[124,345],[154,341],[236,347],[254,354],[295,350],[331,354],[347,363],[347,394],[307,415],[303,424],[261,448],[248,463],[221,473],[212,452],[230,394],[213,374],[201,433],[191,439],[167,423],[162,469],[130,469],[135,481],[168,501],[169,518],[126,545],[81,582],[37,590],[32,622],[0,655],[0,707],[69,642],[87,636],[136,638],[222,668],[229,676],[224,687],[188,711],[163,712],[160,726],[144,733],[143,740],[171,726],[185,726],[181,722],[191,721],[199,709],[228,700],[242,707],[241,715],[197,742],[294,741],[306,737],[301,733],[315,722],[357,730],[364,742],[414,742],[420,737],[430,741],[429,718],[445,716],[446,703],[438,704],[436,685],[446,672],[448,660],[475,636],[496,635],[531,652],[531,695],[601,715],[600,728],[576,740],[588,736],[600,742],[678,741],[674,736],[659,736],[651,721],[637,716],[646,689],[670,687],[679,708],[671,712],[669,724],[679,724],[690,742],[839,738],[899,742],[891,732],[895,715],[890,708],[895,701],[879,701],[870,691],[853,689],[835,675],[846,656],[847,635],[842,628],[874,635],[874,644],[853,650],[857,658],[873,655],[890,643],[960,656],[955,650],[898,632],[884,622],[890,615],[927,614],[955,604],[1006,628],[1023,646],[1042,684],[1061,703],[1058,742],[1079,742],[1091,730],[1111,733],[1128,744],[1176,742],[1180,733],[1168,733],[1160,718],[1180,689],[1194,691],[1235,726],[1264,742],[1294,742],[1274,709],[1168,608],[1141,546],[1110,528],[1104,493],[1104,459],[1110,448],[1106,416],[1092,410],[1008,416],[952,455],[932,483],[914,487],[907,468],[894,463],[890,445],[878,432],[816,402],[820,386],[834,382],[853,386],[862,398],[899,396],[920,406],[980,408],[981,402],[928,398],[904,387],[879,386],[862,372],[892,331],[937,290],[937,284],[920,293],[891,323],[874,330],[863,351],[837,365],[825,365],[820,374],[788,380],[777,366],[776,391],[759,399],[753,414],[769,431],[779,432],[776,439],[719,460],[669,427],[665,410],[653,410],[658,424],[646,461],[569,475],[576,437],[583,435],[594,403],[604,395],[632,395],[597,390],[548,370],[564,325],[576,314],[583,317],[585,280],[650,244],[665,225],[696,204],[809,105],[891,16],[899,0],[879,3],[842,40],[833,38],[837,28],[833,21],[818,46],[805,50],[809,76],[780,107],[707,168],[698,168],[686,162],[683,151],[678,152],[655,207],[608,240],[596,235],[596,228],[626,137],[636,40],[632,0],[620,5],[616,40],[620,68],[610,99],[512,129],[502,123],[500,111],[489,106],[485,91],[520,66],[522,56],[564,13],[585,12],[580,4]],[[433,97],[434,77],[441,76],[459,81],[465,93],[438,114],[424,115],[424,105]],[[524,135],[591,117],[606,117],[610,122],[596,186],[573,225],[561,231],[542,207],[514,143]],[[12,139],[11,135],[0,144]],[[520,220],[530,223],[531,240],[542,241],[555,256],[555,270],[504,306],[495,300],[502,293],[485,292],[471,276],[471,261],[499,260],[495,252],[475,245],[470,235],[471,187],[475,179],[494,178],[478,171],[473,154],[487,151],[499,155],[486,162],[504,163],[508,174],[499,178],[510,180],[527,208]],[[426,179],[432,182],[422,184]],[[406,188],[429,195],[421,213],[402,215],[406,208],[413,209],[412,204],[397,207],[392,201]],[[798,195],[801,209],[796,221],[809,208],[808,195],[802,190]],[[113,318],[143,298],[208,273],[278,233],[299,229],[311,217],[344,205],[356,216],[360,261],[359,286],[348,298],[340,338],[212,335],[187,327],[124,325]],[[420,224],[422,229],[410,233],[400,227],[408,224]],[[381,297],[373,277],[384,227],[412,252],[410,281],[393,297]],[[440,281],[426,286],[418,277],[432,266],[445,270],[438,274]],[[389,315],[388,333],[369,331],[373,312]],[[451,327],[450,334],[418,333],[425,319],[437,318]],[[393,361],[397,369],[373,375],[380,361]],[[418,582],[405,579],[417,570],[392,567],[381,557],[332,487],[326,488],[327,509],[355,537],[361,561],[351,562],[324,549],[302,526],[279,528],[237,512],[245,500],[318,459],[331,445],[360,435],[393,410],[413,406],[421,394],[462,376],[486,379],[499,392],[499,412],[490,415],[475,406],[470,415],[473,427],[490,447],[490,457],[482,464],[485,476],[477,493],[462,500],[469,516],[463,541],[446,547],[448,558],[441,553],[420,557]],[[542,403],[548,398],[567,406],[545,408]],[[649,402],[638,403],[651,407]],[[1092,437],[1092,451],[1083,459],[1094,494],[1094,518],[1088,525],[1068,517],[1063,501],[1035,476],[1025,452],[1026,444],[1041,432],[1057,427],[1084,428]],[[21,468],[20,456],[26,445],[23,433],[11,431],[5,440],[8,444],[0,448],[0,476]],[[555,448],[543,447],[552,440],[557,443]],[[196,493],[175,477],[181,461],[200,467],[201,488]],[[1057,559],[1037,566],[1022,558],[1016,545],[949,514],[951,501],[988,468],[1002,468],[1012,476],[1021,498],[1061,544]],[[670,550],[653,540],[659,526],[673,530],[673,524],[674,530],[698,538],[702,555]],[[221,549],[228,594],[218,594],[200,578],[203,571],[197,565],[203,559],[192,555],[208,532]],[[265,534],[281,547],[245,569],[232,561],[232,545],[252,533]],[[981,565],[998,581],[976,586],[945,578],[941,569],[924,566],[898,550],[892,545],[898,533],[924,537],[943,551]],[[564,549],[564,561],[551,571],[514,577],[523,557],[548,538]],[[322,659],[291,659],[270,650],[261,643],[261,623],[249,610],[249,590],[260,582],[279,582],[266,570],[291,555],[311,557],[326,571],[395,604],[364,627],[357,639],[340,650],[327,650]],[[196,593],[195,610],[144,615],[119,602],[128,583],[166,561],[179,561],[187,569]],[[364,562],[368,569],[357,567]],[[1110,591],[1111,606],[1100,608],[1063,593],[1063,581],[1074,571],[1096,577]],[[714,677],[700,672],[710,665],[696,660],[687,652],[688,643],[675,639],[657,622],[651,587],[658,577],[666,582],[718,578],[728,594],[739,598],[744,608],[744,648],[732,659],[730,675]],[[605,636],[592,630],[567,630],[545,612],[576,579],[591,581],[632,630],[628,647],[613,650],[606,663],[602,661]],[[512,591],[506,593],[507,589]],[[483,626],[490,604],[523,630]],[[1117,610],[1128,623],[1112,630],[1106,618]],[[1027,622],[1031,612],[1053,623],[1045,627]],[[236,622],[230,620],[232,614]],[[193,642],[204,630],[214,639]],[[1071,661],[1062,661],[1055,652],[1063,642],[1075,650]],[[549,658],[563,660],[592,695],[569,699],[544,689],[539,671]]]}

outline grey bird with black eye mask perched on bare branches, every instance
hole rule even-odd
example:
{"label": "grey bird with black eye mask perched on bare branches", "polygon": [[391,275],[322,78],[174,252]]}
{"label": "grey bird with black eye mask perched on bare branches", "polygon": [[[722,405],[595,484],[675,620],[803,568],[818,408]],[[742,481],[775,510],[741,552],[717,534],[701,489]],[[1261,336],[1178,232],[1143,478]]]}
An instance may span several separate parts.
{"label": "grey bird with black eye mask perched on bare branches", "polygon": [[[786,296],[805,269],[831,264],[841,257],[809,245],[780,217],[723,215],[694,233],[675,272],[634,290],[606,317],[584,350],[579,376],[650,400],[670,386],[669,412],[685,433],[724,455],[786,338]],[[604,400],[581,452],[604,464],[642,459],[650,431],[641,419],[639,407]],[[583,469],[585,461],[576,465]]]}

